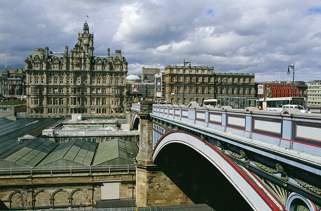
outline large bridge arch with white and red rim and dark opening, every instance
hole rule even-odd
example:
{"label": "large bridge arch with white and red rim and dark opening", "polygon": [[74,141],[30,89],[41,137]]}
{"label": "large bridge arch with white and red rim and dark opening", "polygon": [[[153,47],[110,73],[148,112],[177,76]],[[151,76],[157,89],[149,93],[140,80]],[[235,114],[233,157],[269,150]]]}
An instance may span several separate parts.
{"label": "large bridge arch with white and red rim and dark opening", "polygon": [[[182,151],[184,152],[182,153]],[[173,154],[173,156],[170,156],[170,154]],[[198,196],[199,198],[195,198],[195,201],[191,198],[194,203],[210,204],[214,206],[215,210],[235,210],[237,204],[238,210],[282,210],[282,206],[267,197],[266,193],[257,186],[242,167],[235,164],[225,154],[222,154],[216,146],[192,133],[183,130],[172,130],[160,138],[153,151],[153,163],[161,168],[166,162],[173,162],[174,164],[171,167],[164,167],[163,172],[172,181],[176,181],[178,183],[176,185],[179,188],[184,188],[184,186],[180,186],[179,180],[185,177],[186,173],[189,174],[186,169],[190,166],[196,169],[195,174],[190,173],[193,175],[191,175],[191,178],[198,177],[198,180],[205,181],[204,184],[191,184],[189,187],[190,189],[195,187],[204,188],[204,191],[198,189],[189,195],[188,191],[193,190],[187,190],[186,193],[182,189],[188,197],[193,197],[195,193],[198,193],[198,195],[199,193],[204,193],[204,195],[212,194],[212,196]],[[187,162],[187,164],[184,162]],[[204,167],[203,165],[206,166]],[[207,168],[211,170],[204,172],[204,169]],[[166,169],[169,170],[167,171]],[[171,175],[175,173],[177,174],[176,176]],[[197,174],[198,176],[195,176]],[[184,182],[186,186],[188,181]],[[225,195],[223,194],[224,196],[222,197],[222,195],[215,192],[222,192]],[[215,207],[215,203],[221,203],[220,206],[223,208]]]}

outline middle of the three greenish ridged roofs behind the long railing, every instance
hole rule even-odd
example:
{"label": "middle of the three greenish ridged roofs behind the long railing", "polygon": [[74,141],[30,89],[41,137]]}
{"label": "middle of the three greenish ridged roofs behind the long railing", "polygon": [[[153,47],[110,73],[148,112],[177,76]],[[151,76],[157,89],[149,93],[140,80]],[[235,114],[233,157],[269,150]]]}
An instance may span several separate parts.
{"label": "middle of the three greenish ridged roofs behind the long railing", "polygon": [[83,165],[90,165],[96,147],[97,143],[77,138],[57,146],[39,165],[50,163],[62,158]]}

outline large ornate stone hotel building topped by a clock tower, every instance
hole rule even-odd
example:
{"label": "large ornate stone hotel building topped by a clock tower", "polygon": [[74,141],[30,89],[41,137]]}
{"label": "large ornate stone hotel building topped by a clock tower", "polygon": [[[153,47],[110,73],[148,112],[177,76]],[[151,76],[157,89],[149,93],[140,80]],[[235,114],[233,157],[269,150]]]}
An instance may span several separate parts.
{"label": "large ornate stone hotel building topped by a clock tower", "polygon": [[125,116],[127,61],[120,50],[93,56],[87,22],[75,47],[53,53],[36,48],[25,60],[27,115],[30,117]]}

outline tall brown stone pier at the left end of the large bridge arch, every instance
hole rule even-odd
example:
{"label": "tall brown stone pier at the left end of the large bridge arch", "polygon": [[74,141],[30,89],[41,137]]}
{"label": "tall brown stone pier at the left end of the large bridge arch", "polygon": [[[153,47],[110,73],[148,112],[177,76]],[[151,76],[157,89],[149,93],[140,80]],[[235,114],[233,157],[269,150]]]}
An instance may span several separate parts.
{"label": "tall brown stone pier at the left end of the large bridge arch", "polygon": [[138,207],[193,204],[193,202],[153,164],[153,123],[149,115],[153,101],[142,101],[139,153],[136,165],[136,203]]}

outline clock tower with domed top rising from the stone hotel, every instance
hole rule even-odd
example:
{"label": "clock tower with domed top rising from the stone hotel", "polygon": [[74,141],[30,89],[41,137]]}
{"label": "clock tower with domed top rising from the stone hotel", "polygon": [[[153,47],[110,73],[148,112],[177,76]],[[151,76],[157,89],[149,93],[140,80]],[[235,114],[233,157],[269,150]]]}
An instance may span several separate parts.
{"label": "clock tower with domed top rising from the stone hotel", "polygon": [[78,45],[89,56],[93,56],[94,51],[94,35],[89,33],[87,21],[83,24],[82,33],[78,33]]}

